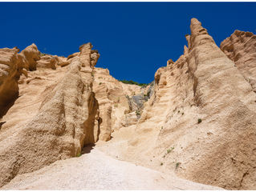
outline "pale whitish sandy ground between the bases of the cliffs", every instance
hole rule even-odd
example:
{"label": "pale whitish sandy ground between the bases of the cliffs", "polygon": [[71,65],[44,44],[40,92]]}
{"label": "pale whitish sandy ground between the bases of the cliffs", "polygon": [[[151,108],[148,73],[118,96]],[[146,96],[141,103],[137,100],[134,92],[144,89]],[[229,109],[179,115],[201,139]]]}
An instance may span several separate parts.
{"label": "pale whitish sandy ground between the bases of the cliffs", "polygon": [[221,190],[123,162],[87,147],[70,158],[18,175],[2,190]]}

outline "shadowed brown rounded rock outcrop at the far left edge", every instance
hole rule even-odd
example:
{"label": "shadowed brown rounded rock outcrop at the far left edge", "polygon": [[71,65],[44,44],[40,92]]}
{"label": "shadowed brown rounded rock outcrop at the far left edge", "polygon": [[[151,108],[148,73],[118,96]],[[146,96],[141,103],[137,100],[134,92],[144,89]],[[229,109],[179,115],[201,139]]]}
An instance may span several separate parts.
{"label": "shadowed brown rounded rock outcrop at the far left edge", "polygon": [[39,50],[35,44],[18,54],[18,48],[0,50],[0,118],[18,97],[18,80],[27,70],[35,70]]}

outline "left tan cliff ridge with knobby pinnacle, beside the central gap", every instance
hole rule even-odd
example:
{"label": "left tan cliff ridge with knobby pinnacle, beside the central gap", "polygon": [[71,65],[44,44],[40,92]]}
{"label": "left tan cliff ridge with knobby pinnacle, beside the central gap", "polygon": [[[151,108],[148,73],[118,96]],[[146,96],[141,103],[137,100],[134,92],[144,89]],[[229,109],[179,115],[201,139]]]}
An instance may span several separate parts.
{"label": "left tan cliff ridge with knobby pinnacle, beside the central gap", "polygon": [[91,91],[93,66],[87,53],[90,43],[70,66],[59,68],[58,78],[52,70],[35,71],[29,73],[34,76],[30,82],[21,82],[20,97],[2,118],[0,186],[17,174],[75,157],[83,145],[95,142],[98,102]]}

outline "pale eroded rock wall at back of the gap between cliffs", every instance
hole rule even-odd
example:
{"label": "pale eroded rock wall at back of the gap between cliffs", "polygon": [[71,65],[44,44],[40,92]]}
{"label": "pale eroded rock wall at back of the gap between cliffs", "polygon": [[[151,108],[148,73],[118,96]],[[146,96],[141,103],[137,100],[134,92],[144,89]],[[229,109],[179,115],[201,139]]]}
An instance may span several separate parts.
{"label": "pale eroded rock wall at back of the gap between cliffs", "polygon": [[136,123],[136,114],[129,106],[128,98],[139,94],[143,89],[116,80],[108,69],[95,68],[93,76],[93,90],[100,105],[99,139],[108,141],[114,130],[127,123]]}

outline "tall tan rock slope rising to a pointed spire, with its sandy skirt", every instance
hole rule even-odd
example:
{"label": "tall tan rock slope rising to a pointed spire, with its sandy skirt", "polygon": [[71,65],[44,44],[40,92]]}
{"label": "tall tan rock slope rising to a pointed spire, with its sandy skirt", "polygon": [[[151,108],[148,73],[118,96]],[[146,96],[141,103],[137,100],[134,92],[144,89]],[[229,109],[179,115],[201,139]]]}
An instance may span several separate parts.
{"label": "tall tan rock slope rising to a pointed spire, with its sandy skirt", "polygon": [[100,147],[194,182],[255,190],[256,94],[201,22],[193,18],[190,29],[184,54],[156,71],[136,127]]}

